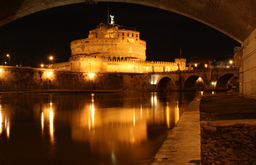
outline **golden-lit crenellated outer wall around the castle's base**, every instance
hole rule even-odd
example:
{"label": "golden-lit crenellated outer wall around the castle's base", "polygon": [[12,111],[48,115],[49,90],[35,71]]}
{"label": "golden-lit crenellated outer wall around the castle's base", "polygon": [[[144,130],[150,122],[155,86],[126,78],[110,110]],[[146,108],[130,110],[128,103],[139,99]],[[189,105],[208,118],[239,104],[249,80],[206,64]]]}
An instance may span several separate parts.
{"label": "golden-lit crenellated outer wall around the castle's base", "polygon": [[[67,62],[68,63],[68,62]],[[186,59],[175,59],[175,62],[164,61],[142,61],[142,60],[115,60],[104,59],[101,57],[80,57],[72,59],[70,63],[57,63],[48,66],[50,69],[90,71],[90,72],[128,72],[128,73],[148,73],[148,72],[167,72],[178,70],[193,70],[193,67],[186,66]]]}

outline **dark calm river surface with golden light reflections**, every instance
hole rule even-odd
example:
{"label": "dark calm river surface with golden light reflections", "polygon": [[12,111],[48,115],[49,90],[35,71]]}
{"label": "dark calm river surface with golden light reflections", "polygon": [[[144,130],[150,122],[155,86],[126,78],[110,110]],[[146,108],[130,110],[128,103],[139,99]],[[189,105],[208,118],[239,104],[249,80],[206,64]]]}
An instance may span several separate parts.
{"label": "dark calm river surface with golden light reflections", "polygon": [[202,94],[0,96],[0,164],[149,164]]}

